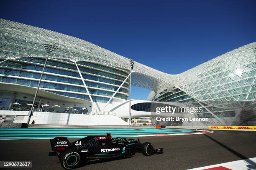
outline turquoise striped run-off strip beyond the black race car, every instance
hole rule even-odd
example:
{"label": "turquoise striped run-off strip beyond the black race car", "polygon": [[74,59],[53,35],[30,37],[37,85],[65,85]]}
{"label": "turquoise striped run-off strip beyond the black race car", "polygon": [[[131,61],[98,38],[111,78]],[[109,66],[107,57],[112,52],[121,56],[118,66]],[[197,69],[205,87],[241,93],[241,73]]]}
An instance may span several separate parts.
{"label": "turquoise striped run-off strip beyond the black race car", "polygon": [[195,135],[213,133],[208,130],[184,130],[184,129],[154,129],[154,128],[133,128],[133,129],[0,129],[0,140],[18,139],[52,139],[56,136],[68,138],[84,138],[88,135],[106,135],[111,133],[113,137],[147,137],[147,136],[168,136],[168,135]]}

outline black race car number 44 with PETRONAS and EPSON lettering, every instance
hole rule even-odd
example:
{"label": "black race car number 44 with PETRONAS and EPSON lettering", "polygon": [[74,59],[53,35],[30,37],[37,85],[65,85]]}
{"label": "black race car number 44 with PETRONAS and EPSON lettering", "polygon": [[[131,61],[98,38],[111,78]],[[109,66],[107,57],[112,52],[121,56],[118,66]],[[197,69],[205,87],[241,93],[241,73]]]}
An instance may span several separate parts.
{"label": "black race car number 44 with PETRONAS and EPSON lettering", "polygon": [[110,158],[131,158],[135,153],[150,156],[163,153],[163,148],[154,149],[151,143],[140,143],[138,140],[122,137],[112,138],[107,135],[87,136],[73,143],[65,137],[50,139],[49,156],[58,156],[61,166],[70,170],[84,162],[92,162]]}

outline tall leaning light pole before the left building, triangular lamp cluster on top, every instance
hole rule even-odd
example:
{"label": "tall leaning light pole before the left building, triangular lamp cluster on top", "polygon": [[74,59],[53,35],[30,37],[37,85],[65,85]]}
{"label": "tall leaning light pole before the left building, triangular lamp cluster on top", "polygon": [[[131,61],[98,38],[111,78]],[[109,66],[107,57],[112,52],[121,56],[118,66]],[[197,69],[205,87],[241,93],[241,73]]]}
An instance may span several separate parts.
{"label": "tall leaning light pole before the left building, triangular lamp cluster on top", "polygon": [[[51,44],[43,44],[43,46],[46,49],[46,52],[48,53],[47,57],[46,57],[46,60],[45,60],[45,63],[44,63],[44,68],[45,68],[45,65],[46,65],[46,62],[48,60],[49,54],[51,52],[53,52],[54,50],[56,50],[57,46],[56,45],[51,45]],[[33,100],[33,103],[32,103],[31,110],[28,112],[28,115],[29,115],[28,122],[27,122],[28,124],[30,122],[31,116],[33,115],[34,105],[35,105],[35,102],[36,102],[36,96],[37,96],[37,93],[38,93],[38,90],[39,90],[39,87],[40,87],[40,83],[41,83],[41,80],[42,80],[42,77],[43,77],[43,74],[44,74],[44,68],[42,70],[41,77],[40,77],[40,80],[39,80],[37,88],[36,88],[36,94],[35,94],[35,97],[34,97],[34,100]]]}

